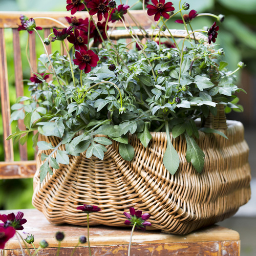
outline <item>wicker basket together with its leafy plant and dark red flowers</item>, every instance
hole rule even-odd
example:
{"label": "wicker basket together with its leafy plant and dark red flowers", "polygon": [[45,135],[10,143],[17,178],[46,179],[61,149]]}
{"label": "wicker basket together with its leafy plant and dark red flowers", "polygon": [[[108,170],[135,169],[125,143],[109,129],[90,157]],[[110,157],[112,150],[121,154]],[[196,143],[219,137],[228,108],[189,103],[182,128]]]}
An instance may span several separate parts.
{"label": "wicker basket together with its leafy plant and dark red flowers", "polygon": [[[187,233],[233,215],[250,197],[243,126],[224,114],[241,111],[243,90],[212,44],[219,26],[193,31],[200,14],[183,15],[188,3],[144,2],[152,30],[136,17],[139,29],[126,28],[128,5],[67,0],[71,15],[86,10],[91,18],[66,17],[70,26],[41,38],[60,40],[67,54],[42,54],[31,97],[12,106],[12,119],[24,118],[27,130],[17,127],[8,139],[25,143],[37,131],[33,204],[53,223],[86,225],[75,206],[88,203],[102,209],[92,224],[122,226],[123,210],[138,205],[151,214],[150,228]],[[185,30],[168,28],[175,15]],[[38,34],[33,18],[20,19],[20,29]],[[121,33],[108,31],[110,22],[123,22],[130,45],[114,44],[110,36]]]}

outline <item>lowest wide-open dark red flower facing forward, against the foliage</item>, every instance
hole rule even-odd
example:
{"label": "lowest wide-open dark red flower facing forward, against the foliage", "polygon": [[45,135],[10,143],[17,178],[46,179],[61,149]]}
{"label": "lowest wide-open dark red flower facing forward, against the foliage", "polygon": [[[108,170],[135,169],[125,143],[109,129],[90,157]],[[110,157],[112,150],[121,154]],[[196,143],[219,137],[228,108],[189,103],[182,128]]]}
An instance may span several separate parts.
{"label": "lowest wide-open dark red flower facing forward, against the foliage", "polygon": [[[97,54],[95,54],[92,50],[81,50],[80,52],[76,51],[75,53],[76,59],[74,59],[75,65],[78,65],[78,68],[80,70],[84,69],[84,73],[89,73],[91,71],[91,67],[96,67],[97,62],[99,61],[99,57]],[[86,204],[83,205],[86,209],[89,206],[86,206]],[[83,207],[79,206],[79,207]],[[93,209],[94,206],[90,205],[91,209]],[[89,208],[90,208],[89,207]],[[95,206],[97,207],[97,206]],[[79,210],[82,210],[79,208]]]}

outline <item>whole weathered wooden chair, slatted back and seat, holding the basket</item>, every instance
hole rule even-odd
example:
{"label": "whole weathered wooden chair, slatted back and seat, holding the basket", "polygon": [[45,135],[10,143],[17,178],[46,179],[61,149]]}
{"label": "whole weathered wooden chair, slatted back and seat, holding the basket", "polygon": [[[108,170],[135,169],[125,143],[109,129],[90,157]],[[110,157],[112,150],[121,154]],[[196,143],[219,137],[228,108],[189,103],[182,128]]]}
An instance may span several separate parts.
{"label": "whole weathered wooden chair, slatted back and seat, holding the basket", "polygon": [[[19,161],[14,161],[14,151],[12,140],[6,138],[12,133],[10,127],[10,98],[9,98],[9,82],[8,72],[15,74],[15,89],[16,97],[24,94],[23,84],[23,65],[20,49],[20,39],[18,32],[18,25],[20,24],[20,14],[28,17],[42,17],[47,16],[55,18],[60,22],[67,24],[67,12],[0,12],[0,86],[1,86],[1,107],[3,116],[3,141],[5,161],[0,162],[0,179],[14,179],[14,178],[31,178],[33,177],[36,164],[35,160],[28,161],[27,145],[19,145]],[[133,14],[140,20],[140,23],[145,26],[150,26],[150,22],[145,18],[142,11],[133,11]],[[80,12],[75,15],[77,18],[88,17],[87,12]],[[126,17],[127,21],[133,26],[133,20]],[[52,27],[58,25],[52,20],[37,19],[37,26],[44,29],[45,37],[51,32]],[[67,24],[68,25],[68,24]],[[112,24],[110,24],[112,25]],[[112,25],[113,26],[113,25]],[[122,26],[119,23],[117,26]],[[129,24],[127,24],[129,26]],[[13,56],[14,56],[14,70],[7,65],[6,29],[12,31],[13,35]],[[115,38],[114,36],[112,38]],[[129,41],[129,39],[128,39]],[[37,70],[36,56],[36,40],[35,33],[29,35],[29,55],[30,62],[34,70]],[[48,51],[51,52],[51,46],[48,46]],[[22,121],[18,122],[21,130],[25,129]],[[0,211],[0,214],[8,214],[10,211]],[[15,212],[15,211],[14,211]],[[61,227],[50,224],[46,218],[36,209],[23,210],[26,219],[28,219],[26,231],[35,235],[35,245],[38,246],[40,239],[49,238],[50,247],[45,249],[43,253],[53,255],[57,250],[57,243],[54,240],[54,234],[58,230],[63,230],[66,233],[67,242],[63,241],[61,244],[61,255],[70,255],[71,251],[77,244],[80,234],[86,233],[84,227],[73,227],[69,225],[62,225]],[[38,221],[39,220],[39,221]],[[76,230],[74,230],[76,228]],[[91,245],[93,255],[124,255],[127,252],[127,245],[129,244],[130,229],[113,228],[113,227],[92,227],[90,229]],[[108,234],[108,236],[101,236],[100,234]],[[24,237],[26,235],[23,234]],[[54,242],[55,241],[55,242]],[[87,246],[87,244],[86,244]],[[10,240],[7,244],[7,255],[20,255],[19,246],[15,238]],[[135,233],[135,245],[132,249],[133,255],[195,255],[200,252],[202,255],[239,255],[240,254],[240,238],[239,233],[227,228],[212,226],[207,229],[199,230],[189,234],[188,236],[175,236],[170,234],[163,234],[161,231],[146,231]],[[79,254],[80,253],[80,254]],[[78,247],[74,255],[88,255],[87,247]],[[200,254],[200,255],[201,255]],[[3,255],[0,250],[0,255]]]}

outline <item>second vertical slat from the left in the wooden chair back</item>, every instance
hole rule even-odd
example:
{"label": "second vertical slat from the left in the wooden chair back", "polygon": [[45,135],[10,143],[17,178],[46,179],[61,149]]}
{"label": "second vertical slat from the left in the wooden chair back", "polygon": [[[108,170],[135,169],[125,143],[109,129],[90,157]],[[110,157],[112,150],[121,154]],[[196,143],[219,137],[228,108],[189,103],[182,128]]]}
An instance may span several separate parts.
{"label": "second vertical slat from the left in the wooden chair back", "polygon": [[[15,88],[16,88],[16,97],[24,95],[23,90],[23,72],[22,72],[22,54],[20,52],[19,44],[19,32],[17,29],[12,30],[13,34],[13,57],[14,57],[14,72],[15,72]],[[22,102],[21,102],[22,103]],[[23,120],[18,120],[18,127],[20,130],[25,131],[26,126]],[[28,160],[27,153],[27,143],[24,145],[19,144],[19,156],[20,160]]]}

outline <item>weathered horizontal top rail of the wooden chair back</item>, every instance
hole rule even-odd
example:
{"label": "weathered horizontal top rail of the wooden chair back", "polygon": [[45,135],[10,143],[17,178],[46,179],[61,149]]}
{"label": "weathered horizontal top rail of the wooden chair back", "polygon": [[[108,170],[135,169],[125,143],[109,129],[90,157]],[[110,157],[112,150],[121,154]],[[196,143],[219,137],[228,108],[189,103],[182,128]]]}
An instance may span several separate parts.
{"label": "weathered horizontal top rail of the wooden chair back", "polygon": [[[130,11],[132,15],[139,20],[140,24],[142,26],[151,26],[152,24],[152,19],[144,14],[143,10],[132,10]],[[7,12],[7,11],[0,11],[0,28],[18,28],[17,24],[20,24],[20,14],[26,15],[28,18],[35,18],[35,17],[50,17],[57,19],[59,22],[65,24],[66,26],[69,26],[67,23],[67,20],[65,19],[66,16],[71,16],[70,12]],[[82,12],[77,12],[75,15],[77,18],[87,18],[90,17],[88,12],[82,11]],[[96,15],[95,15],[96,18]],[[57,27],[58,24],[54,22],[53,20],[50,19],[44,19],[44,18],[38,18],[36,20],[36,26],[42,27],[42,28],[52,28],[52,27]],[[97,20],[97,18],[95,19]],[[129,27],[129,23],[131,26],[135,27],[136,24],[133,22],[132,18],[129,17],[129,15],[125,15],[125,22],[126,26]],[[114,23],[109,23],[108,24],[110,27],[114,26]],[[123,27],[122,22],[118,22],[116,27]],[[61,27],[61,25],[59,25]]]}

